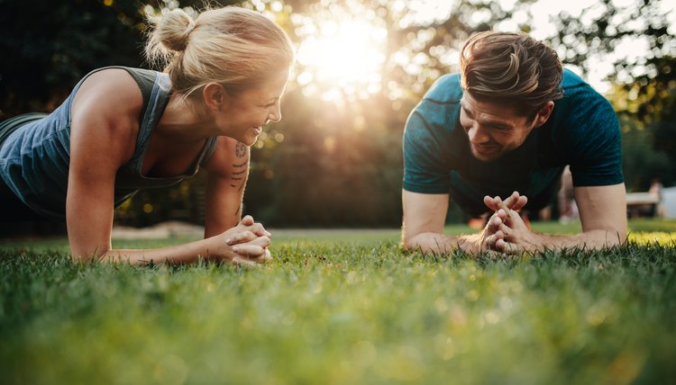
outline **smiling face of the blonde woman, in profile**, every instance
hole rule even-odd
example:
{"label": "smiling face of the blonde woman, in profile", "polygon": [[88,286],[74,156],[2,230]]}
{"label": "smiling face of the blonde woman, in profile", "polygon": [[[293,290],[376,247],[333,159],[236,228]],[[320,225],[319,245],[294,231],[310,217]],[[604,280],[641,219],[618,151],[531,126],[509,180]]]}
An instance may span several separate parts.
{"label": "smiling face of the blonde woman, in profile", "polygon": [[217,125],[227,137],[247,146],[256,142],[262,126],[281,120],[279,105],[287,86],[288,71],[280,71],[268,83],[235,95],[226,95],[224,109],[217,117]]}

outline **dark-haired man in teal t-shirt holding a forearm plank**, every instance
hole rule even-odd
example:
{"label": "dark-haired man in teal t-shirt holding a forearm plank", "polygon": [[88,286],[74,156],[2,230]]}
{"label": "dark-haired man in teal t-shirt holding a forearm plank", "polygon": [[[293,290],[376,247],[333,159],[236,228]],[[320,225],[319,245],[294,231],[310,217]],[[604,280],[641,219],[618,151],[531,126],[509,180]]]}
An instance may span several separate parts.
{"label": "dark-haired man in teal t-shirt holding a forearm plank", "polygon": [[[623,243],[626,191],[610,104],[562,70],[553,49],[524,34],[471,36],[460,67],[435,82],[407,121],[404,246],[519,254]],[[534,233],[517,211],[552,201],[567,165],[582,233]],[[473,217],[493,213],[480,234],[443,236],[450,199]]]}

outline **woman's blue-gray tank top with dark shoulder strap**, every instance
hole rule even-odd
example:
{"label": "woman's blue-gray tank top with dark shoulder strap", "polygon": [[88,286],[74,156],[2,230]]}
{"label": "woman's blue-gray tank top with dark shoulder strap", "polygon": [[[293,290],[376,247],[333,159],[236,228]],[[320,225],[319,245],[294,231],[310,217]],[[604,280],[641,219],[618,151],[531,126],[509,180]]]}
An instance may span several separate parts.
{"label": "woman's blue-gray tank top with dark shoulder strap", "polygon": [[[111,68],[111,67],[105,67]],[[105,68],[96,69],[87,76]],[[152,130],[169,103],[169,76],[147,69],[123,68],[139,84],[143,95],[139,136],[132,159],[115,175],[115,207],[139,189],[164,187],[193,176],[214,154],[217,137],[206,140],[186,175],[155,178],[142,175],[143,159]],[[0,177],[26,205],[52,219],[66,217],[70,163],[70,107],[85,76],[68,99],[49,115],[25,114],[0,123]],[[4,139],[4,140],[2,140]],[[96,166],[96,165],[92,165]]]}

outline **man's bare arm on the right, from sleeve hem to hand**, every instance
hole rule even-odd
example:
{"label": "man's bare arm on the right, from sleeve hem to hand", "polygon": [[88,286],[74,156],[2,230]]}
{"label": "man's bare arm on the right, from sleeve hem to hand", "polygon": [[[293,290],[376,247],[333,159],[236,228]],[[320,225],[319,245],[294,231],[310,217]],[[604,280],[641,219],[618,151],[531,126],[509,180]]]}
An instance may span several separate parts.
{"label": "man's bare arm on the right, from sleeve hem to hand", "polygon": [[[575,188],[575,201],[580,209],[582,232],[572,236],[538,234],[526,228],[514,210],[502,207],[505,223],[499,225],[488,243],[496,251],[520,254],[547,249],[584,247],[599,249],[626,241],[625,184]],[[498,214],[500,215],[500,214]]]}

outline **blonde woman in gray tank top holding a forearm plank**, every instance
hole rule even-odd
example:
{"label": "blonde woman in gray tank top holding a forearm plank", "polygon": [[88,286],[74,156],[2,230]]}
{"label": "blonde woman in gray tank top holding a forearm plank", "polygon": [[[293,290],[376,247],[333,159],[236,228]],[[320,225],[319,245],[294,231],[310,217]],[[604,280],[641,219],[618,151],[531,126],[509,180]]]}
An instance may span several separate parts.
{"label": "blonde woman in gray tank top holding a forearm plank", "polygon": [[[242,194],[249,146],[262,125],[281,119],[279,101],[295,59],[291,42],[260,13],[236,7],[194,21],[174,10],[154,24],[146,52],[167,60],[164,73],[101,68],[50,115],[0,123],[4,209],[14,219],[65,219],[75,260],[263,263],[269,233],[251,217],[240,220]],[[112,248],[115,206],[140,188],[176,184],[200,166],[208,173],[205,239]]]}

